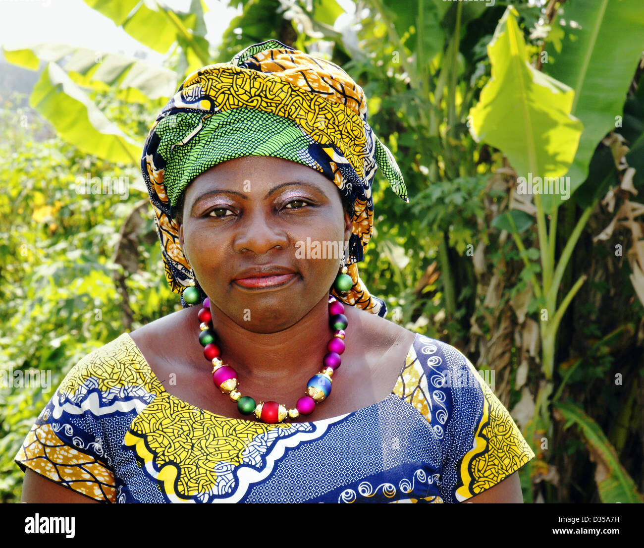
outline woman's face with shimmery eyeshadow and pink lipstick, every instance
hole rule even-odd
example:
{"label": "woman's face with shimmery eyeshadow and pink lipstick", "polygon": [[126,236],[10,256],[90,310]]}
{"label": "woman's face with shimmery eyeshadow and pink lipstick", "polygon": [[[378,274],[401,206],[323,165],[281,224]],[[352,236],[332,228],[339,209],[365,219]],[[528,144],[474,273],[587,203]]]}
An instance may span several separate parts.
{"label": "woman's face with shimmery eyeshadow and pink lipstick", "polygon": [[[197,176],[179,223],[180,244],[211,307],[259,333],[293,325],[326,298],[351,234],[334,183],[269,156],[235,158]],[[324,249],[319,258],[316,245]],[[290,274],[252,279],[273,269]]]}

